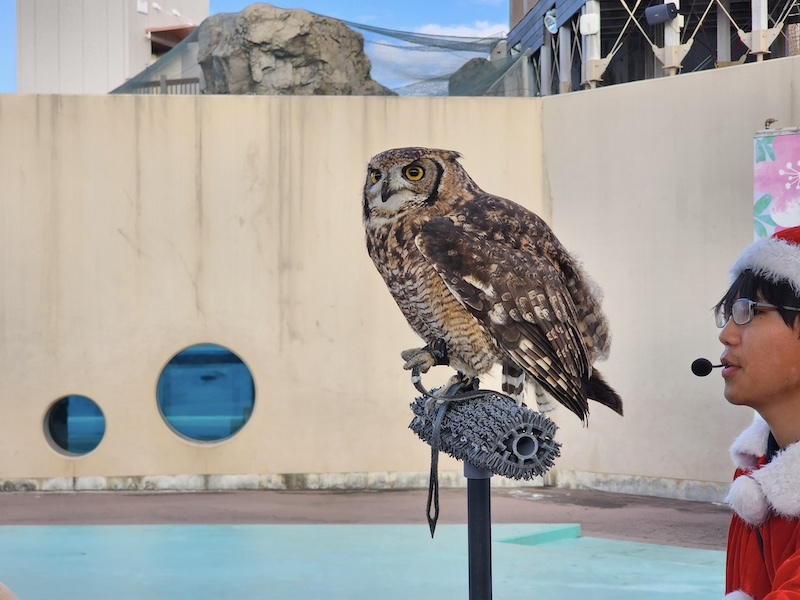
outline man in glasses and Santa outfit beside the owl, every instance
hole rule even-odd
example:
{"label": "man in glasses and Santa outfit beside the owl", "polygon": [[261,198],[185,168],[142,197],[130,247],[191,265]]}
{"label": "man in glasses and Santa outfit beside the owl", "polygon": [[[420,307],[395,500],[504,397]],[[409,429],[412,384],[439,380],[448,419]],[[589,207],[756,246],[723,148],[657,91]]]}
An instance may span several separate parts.
{"label": "man in glasses and Santa outfit beside the owl", "polygon": [[717,305],[733,443],[726,600],[800,600],[800,227],[751,244]]}

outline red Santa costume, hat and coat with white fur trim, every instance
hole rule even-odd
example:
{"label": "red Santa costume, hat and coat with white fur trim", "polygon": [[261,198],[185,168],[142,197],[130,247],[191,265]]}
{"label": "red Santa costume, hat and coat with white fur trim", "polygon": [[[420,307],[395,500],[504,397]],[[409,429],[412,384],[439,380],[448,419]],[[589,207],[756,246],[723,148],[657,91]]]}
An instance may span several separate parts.
{"label": "red Santa costume, hat and coat with white fur trim", "polygon": [[[751,244],[731,269],[800,290],[800,228]],[[798,293],[800,295],[800,293]],[[800,343],[800,342],[798,342]],[[733,443],[726,600],[800,600],[800,442],[779,450],[758,414]]]}

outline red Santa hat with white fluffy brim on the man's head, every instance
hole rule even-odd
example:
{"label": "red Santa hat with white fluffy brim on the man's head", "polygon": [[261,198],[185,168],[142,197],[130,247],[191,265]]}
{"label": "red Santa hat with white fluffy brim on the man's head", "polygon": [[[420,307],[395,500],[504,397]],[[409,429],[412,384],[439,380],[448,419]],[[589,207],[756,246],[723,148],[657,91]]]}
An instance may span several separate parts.
{"label": "red Santa hat with white fluffy brim on the man's head", "polygon": [[772,283],[788,283],[800,296],[800,227],[750,244],[731,267],[731,281],[747,269]]}

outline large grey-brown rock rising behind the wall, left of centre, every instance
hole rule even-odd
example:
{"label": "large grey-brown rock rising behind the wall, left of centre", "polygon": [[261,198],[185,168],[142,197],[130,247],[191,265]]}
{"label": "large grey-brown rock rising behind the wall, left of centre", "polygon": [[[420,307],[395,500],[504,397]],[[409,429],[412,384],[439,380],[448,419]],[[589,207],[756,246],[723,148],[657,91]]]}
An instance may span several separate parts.
{"label": "large grey-brown rock rising behind the wall, left of centre", "polygon": [[370,77],[364,38],[335,19],[253,4],[198,36],[206,94],[394,95]]}

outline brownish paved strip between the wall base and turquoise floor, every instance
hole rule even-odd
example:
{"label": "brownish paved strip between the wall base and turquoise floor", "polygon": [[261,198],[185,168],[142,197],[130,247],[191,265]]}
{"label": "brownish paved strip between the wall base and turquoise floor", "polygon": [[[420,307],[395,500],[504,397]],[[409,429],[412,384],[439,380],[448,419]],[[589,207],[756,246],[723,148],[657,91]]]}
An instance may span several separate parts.
{"label": "brownish paved strip between the wall base and turquoise floor", "polygon": [[[426,490],[212,493],[0,492],[0,525],[425,524]],[[729,511],[705,502],[554,488],[492,491],[492,522],[578,523],[581,535],[724,550]],[[441,524],[466,490],[441,490]]]}

